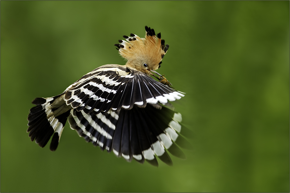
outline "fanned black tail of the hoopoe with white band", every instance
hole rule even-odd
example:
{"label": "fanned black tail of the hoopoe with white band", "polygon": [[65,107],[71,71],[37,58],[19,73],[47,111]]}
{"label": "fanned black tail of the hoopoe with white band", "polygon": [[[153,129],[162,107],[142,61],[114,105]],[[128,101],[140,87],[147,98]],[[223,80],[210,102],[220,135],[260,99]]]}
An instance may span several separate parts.
{"label": "fanned black tail of the hoopoe with white band", "polygon": [[50,150],[57,149],[59,139],[70,113],[70,106],[67,106],[63,100],[64,94],[60,94],[50,98],[36,98],[28,115],[28,129],[31,141],[34,141],[44,147],[50,140]]}

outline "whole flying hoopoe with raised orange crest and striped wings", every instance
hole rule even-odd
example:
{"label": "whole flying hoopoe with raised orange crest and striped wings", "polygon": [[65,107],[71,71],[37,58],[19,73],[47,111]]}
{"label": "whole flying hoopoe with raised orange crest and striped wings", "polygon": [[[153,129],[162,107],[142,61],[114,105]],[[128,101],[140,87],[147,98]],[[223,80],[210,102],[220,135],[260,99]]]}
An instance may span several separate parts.
{"label": "whole flying hoopoe with raised orange crest and striped wings", "polygon": [[[66,121],[80,137],[102,150],[113,151],[128,162],[134,158],[158,166],[156,156],[168,165],[172,155],[185,158],[176,144],[182,116],[169,103],[184,96],[155,70],[169,45],[161,33],[145,26],[145,38],[123,36],[117,50],[125,65],[107,64],[87,73],[57,96],[36,98],[28,115],[31,141],[44,147],[52,136],[55,151]],[[159,75],[157,77],[155,74]],[[156,77],[156,81],[149,75]]]}

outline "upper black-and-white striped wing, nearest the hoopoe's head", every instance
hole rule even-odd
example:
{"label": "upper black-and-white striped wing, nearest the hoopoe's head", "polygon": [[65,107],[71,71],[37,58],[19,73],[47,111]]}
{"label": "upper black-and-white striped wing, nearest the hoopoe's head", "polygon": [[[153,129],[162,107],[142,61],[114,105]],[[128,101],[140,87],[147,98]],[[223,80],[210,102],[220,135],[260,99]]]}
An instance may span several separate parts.
{"label": "upper black-and-white striped wing, nearest the hoopoe's head", "polygon": [[96,68],[66,89],[64,100],[86,114],[130,110],[134,105],[166,104],[180,99],[178,92],[139,71],[117,64]]}

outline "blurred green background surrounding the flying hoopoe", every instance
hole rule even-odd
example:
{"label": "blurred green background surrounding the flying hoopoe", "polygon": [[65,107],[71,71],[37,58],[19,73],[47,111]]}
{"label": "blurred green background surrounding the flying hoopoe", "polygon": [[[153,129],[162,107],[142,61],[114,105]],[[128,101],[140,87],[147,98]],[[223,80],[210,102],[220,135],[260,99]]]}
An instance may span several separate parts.
{"label": "blurred green background surrounding the flying hoopoe", "polygon": [[[145,25],[187,93],[187,159],[127,163],[68,124],[55,152],[31,142],[31,101],[125,64],[114,44]],[[289,192],[289,1],[1,1],[1,192]]]}

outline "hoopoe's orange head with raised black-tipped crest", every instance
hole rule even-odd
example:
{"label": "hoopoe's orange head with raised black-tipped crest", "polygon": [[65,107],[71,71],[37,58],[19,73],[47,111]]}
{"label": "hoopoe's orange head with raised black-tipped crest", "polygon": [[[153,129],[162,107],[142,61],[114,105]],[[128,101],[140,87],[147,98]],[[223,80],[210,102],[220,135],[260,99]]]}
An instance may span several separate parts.
{"label": "hoopoe's orange head with raised black-tipped crest", "polygon": [[161,33],[156,36],[154,29],[147,26],[145,30],[145,38],[130,34],[131,37],[123,36],[126,41],[119,40],[120,43],[115,46],[119,54],[127,60],[126,66],[149,75],[150,71],[160,68],[161,60],[169,45],[164,45],[165,41],[161,40]]}

